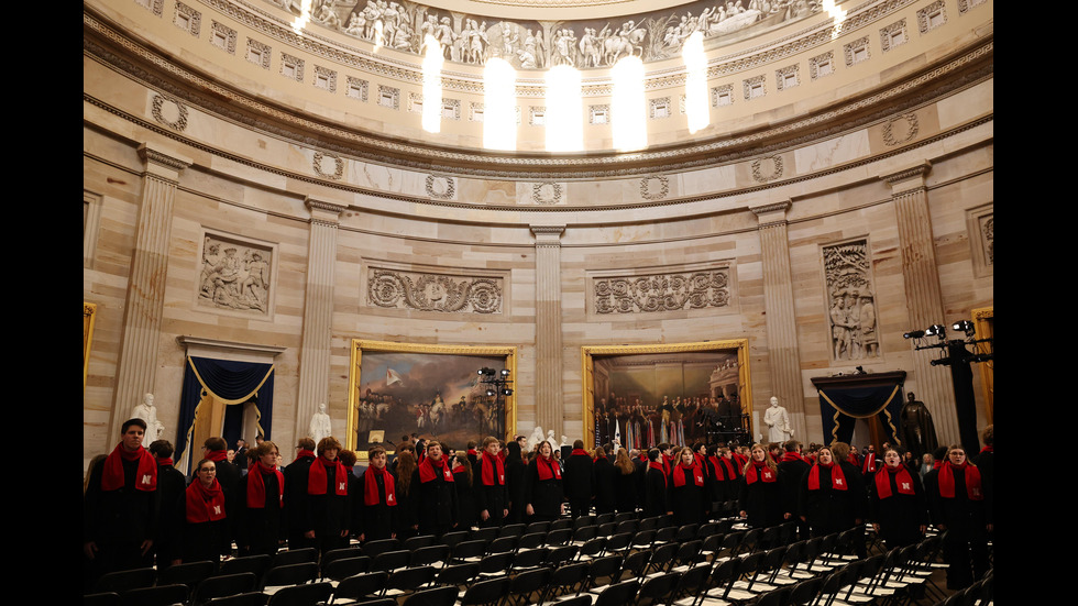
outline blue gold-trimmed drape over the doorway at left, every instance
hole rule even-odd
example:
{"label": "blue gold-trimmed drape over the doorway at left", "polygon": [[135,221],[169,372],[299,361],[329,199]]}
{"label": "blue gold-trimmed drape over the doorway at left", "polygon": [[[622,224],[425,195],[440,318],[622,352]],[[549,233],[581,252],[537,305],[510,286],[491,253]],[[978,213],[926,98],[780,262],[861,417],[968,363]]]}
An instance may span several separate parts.
{"label": "blue gold-trimmed drape over the doorway at left", "polygon": [[[184,388],[180,395],[179,436],[176,442],[177,463],[184,469],[191,463],[190,451],[195,423],[199,414],[207,414],[206,407],[212,403],[224,405],[224,426],[233,428],[235,436],[222,436],[231,445],[240,438],[239,423],[230,419],[239,419],[241,406],[254,401],[257,407],[258,432],[267,440],[271,439],[273,422],[273,364],[254,362],[232,362],[229,360],[212,360],[208,357],[187,357],[184,373]],[[213,436],[222,430],[215,428]],[[227,433],[227,431],[226,431]],[[251,439],[253,436],[248,436]]]}

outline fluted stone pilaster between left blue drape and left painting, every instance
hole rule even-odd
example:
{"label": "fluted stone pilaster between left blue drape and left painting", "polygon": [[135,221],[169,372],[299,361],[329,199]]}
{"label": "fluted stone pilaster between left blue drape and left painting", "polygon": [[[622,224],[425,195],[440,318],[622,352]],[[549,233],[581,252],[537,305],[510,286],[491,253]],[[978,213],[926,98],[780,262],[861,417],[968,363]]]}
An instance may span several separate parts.
{"label": "fluted stone pilaster between left blue drape and left painting", "polygon": [[[307,286],[304,298],[304,338],[299,351],[299,389],[296,399],[296,440],[307,436],[318,405],[329,406],[330,346],[333,334],[333,284],[337,276],[337,228],[341,205],[307,198],[310,239],[307,245]],[[327,412],[333,417],[333,410]],[[346,444],[344,418],[338,412],[333,437]]]}

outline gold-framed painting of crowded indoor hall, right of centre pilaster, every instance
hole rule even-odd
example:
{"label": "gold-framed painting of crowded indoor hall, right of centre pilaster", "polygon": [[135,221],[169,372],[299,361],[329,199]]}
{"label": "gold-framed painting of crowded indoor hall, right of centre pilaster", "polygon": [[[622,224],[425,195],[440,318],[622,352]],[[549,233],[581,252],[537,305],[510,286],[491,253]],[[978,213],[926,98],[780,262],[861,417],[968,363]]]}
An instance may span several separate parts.
{"label": "gold-framed painting of crowded indoor hall, right of centre pilaster", "polygon": [[747,339],[581,350],[588,448],[746,443],[752,436]]}

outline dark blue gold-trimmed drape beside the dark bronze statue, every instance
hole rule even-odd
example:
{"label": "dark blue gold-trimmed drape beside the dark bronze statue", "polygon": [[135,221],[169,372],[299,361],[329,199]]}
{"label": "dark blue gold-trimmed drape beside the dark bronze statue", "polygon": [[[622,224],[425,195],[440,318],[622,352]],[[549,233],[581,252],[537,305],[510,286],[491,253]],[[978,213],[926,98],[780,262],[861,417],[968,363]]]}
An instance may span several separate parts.
{"label": "dark blue gold-trimmed drape beside the dark bronze statue", "polygon": [[849,443],[857,419],[879,416],[886,439],[892,444],[901,442],[902,385],[878,385],[820,389],[820,414],[824,426],[825,442]]}

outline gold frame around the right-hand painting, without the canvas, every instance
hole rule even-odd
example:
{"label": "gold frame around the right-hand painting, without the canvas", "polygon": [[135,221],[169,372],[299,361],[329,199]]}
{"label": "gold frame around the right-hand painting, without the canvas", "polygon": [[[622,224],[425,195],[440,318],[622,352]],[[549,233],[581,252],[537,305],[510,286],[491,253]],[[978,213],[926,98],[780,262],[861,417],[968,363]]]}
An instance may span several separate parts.
{"label": "gold frame around the right-hand painting, without the canvas", "polygon": [[[752,418],[752,381],[749,370],[749,340],[728,339],[719,341],[698,341],[693,343],[647,344],[647,345],[584,345],[581,348],[581,376],[583,377],[584,443],[595,447],[595,357],[622,355],[673,355],[679,353],[729,353],[736,352],[738,366],[738,397],[741,412]],[[750,421],[751,422],[751,421]],[[749,428],[751,434],[751,427]]]}

